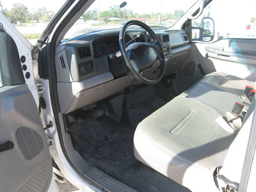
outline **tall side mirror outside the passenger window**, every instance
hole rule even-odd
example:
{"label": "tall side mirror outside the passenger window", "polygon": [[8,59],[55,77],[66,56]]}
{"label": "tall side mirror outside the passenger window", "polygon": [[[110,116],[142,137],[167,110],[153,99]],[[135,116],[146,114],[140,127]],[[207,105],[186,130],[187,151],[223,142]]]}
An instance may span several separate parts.
{"label": "tall side mirror outside the passenger window", "polygon": [[214,20],[210,17],[202,19],[202,41],[211,41],[214,39]]}

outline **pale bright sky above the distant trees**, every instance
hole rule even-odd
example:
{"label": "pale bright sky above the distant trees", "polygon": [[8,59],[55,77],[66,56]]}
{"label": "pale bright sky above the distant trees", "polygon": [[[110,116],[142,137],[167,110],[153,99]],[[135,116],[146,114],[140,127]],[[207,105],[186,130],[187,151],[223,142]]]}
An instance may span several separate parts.
{"label": "pale bright sky above the distant trees", "polygon": [[[100,11],[108,10],[111,5],[120,5],[122,2],[126,1],[127,5],[125,9],[132,9],[134,13],[151,13],[151,12],[161,12],[162,13],[174,13],[176,9],[187,10],[190,8],[194,2],[197,0],[96,0],[90,9],[98,8],[100,5]],[[65,3],[65,0],[0,0],[3,8],[11,9],[12,5],[15,3],[24,4],[32,10],[33,8],[46,7],[48,10],[53,10],[55,12]],[[157,5],[152,6],[152,4],[157,2]],[[143,9],[141,9],[143,8]]]}

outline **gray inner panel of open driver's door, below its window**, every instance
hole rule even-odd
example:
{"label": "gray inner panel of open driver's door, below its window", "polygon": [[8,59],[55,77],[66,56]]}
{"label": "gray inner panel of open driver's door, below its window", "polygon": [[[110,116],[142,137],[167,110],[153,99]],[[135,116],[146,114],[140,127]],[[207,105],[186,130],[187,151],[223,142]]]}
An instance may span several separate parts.
{"label": "gray inner panel of open driver's door, below its window", "polygon": [[0,122],[0,144],[14,144],[0,153],[1,191],[47,191],[52,175],[50,152],[26,84],[0,88]]}

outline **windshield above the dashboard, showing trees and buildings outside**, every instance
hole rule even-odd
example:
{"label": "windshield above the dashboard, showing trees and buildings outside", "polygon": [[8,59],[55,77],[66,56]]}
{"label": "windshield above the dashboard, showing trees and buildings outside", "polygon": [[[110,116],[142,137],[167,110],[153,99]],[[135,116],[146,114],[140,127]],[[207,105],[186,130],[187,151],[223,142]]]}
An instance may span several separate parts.
{"label": "windshield above the dashboard, showing trees and buildings outside", "polygon": [[93,31],[122,28],[129,20],[140,20],[152,29],[166,29],[172,27],[197,0],[127,0],[122,7],[120,5],[123,2],[96,0],[63,39]]}

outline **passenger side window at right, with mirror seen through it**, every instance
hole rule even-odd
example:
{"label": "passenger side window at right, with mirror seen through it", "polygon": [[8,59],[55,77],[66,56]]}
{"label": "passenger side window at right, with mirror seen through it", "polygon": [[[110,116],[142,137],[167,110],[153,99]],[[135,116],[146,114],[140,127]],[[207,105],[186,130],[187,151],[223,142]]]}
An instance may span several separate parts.
{"label": "passenger side window at right, with mirror seen through it", "polygon": [[193,41],[256,38],[256,4],[253,1],[212,1],[192,20]]}

